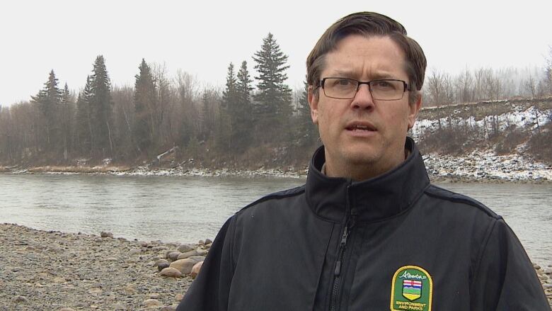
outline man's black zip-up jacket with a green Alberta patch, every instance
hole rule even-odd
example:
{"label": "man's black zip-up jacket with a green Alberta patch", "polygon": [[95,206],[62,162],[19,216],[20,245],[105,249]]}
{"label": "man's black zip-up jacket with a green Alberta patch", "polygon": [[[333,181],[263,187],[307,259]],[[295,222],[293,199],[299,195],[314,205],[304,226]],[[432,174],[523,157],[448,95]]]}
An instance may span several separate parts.
{"label": "man's black zip-up jacket with a green Alberta patch", "polygon": [[476,200],[430,184],[413,140],[396,169],[321,174],[232,216],[177,310],[550,310],[522,245]]}

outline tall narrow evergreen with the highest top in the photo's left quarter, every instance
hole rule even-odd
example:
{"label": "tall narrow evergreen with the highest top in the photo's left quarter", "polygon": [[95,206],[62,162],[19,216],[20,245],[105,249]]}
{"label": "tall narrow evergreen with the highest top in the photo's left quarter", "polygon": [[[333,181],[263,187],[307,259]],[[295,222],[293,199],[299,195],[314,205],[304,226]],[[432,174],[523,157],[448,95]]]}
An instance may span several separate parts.
{"label": "tall narrow evergreen with the highest top in the photo's left quarter", "polygon": [[102,55],[96,57],[91,76],[91,123],[94,140],[92,151],[101,157],[113,156],[111,82]]}

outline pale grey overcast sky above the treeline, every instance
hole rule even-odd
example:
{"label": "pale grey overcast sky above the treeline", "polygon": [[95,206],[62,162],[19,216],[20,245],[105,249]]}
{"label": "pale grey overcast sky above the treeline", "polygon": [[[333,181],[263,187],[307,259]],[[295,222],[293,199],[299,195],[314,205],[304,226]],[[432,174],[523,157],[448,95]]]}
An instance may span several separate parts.
{"label": "pale grey overcast sky above the treeline", "polygon": [[355,11],[396,19],[420,43],[428,67],[541,67],[552,45],[552,1],[2,1],[0,105],[28,101],[54,69],[79,91],[97,55],[114,85],[133,85],[142,57],[223,85],[270,32],[289,55],[292,89],[331,23]]}

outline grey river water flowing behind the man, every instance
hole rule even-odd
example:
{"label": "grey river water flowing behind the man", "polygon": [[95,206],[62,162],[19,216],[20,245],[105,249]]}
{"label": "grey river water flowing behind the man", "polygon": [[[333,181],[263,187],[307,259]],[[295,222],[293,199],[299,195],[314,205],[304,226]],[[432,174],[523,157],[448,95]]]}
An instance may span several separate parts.
{"label": "grey river water flowing behind the man", "polygon": [[[224,221],[265,194],[303,179],[0,174],[0,222],[40,230],[143,241],[214,239]],[[552,260],[552,184],[447,183],[488,205],[516,232],[534,262]]]}

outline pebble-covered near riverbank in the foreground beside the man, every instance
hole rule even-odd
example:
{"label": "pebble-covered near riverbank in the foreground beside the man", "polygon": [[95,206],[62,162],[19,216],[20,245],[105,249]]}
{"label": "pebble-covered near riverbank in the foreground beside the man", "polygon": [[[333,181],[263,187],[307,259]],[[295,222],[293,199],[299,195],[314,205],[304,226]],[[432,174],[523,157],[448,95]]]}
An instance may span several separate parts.
{"label": "pebble-covered near riverbank in the foreground beside the man", "polygon": [[[176,248],[0,224],[0,310],[174,310],[192,278],[154,264]],[[552,306],[552,262],[538,264]]]}

